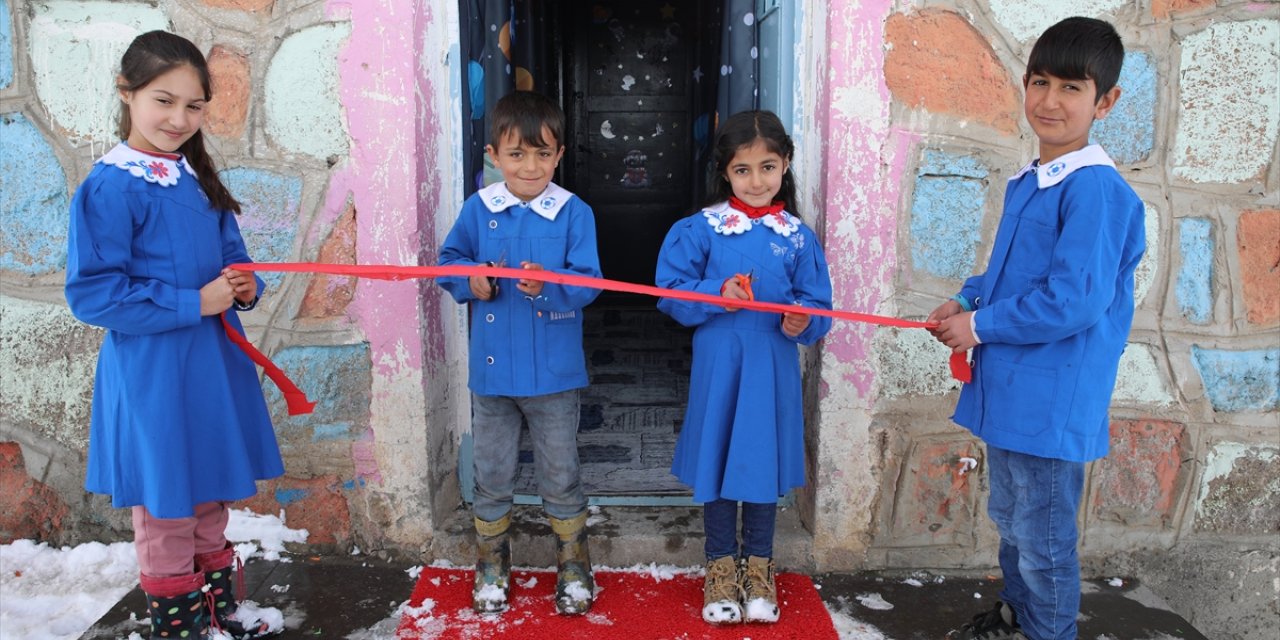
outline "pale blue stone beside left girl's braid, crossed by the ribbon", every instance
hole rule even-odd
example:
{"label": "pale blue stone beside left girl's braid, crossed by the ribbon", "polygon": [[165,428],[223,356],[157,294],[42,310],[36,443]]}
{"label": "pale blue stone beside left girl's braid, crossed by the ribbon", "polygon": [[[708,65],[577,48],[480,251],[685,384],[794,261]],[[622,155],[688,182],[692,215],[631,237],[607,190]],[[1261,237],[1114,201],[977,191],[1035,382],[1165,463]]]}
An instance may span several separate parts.
{"label": "pale blue stone beside left girl's braid, crossed by the ribbon", "polygon": [[[297,237],[302,178],[265,169],[234,168],[219,173],[223,184],[241,204],[241,233],[255,262],[288,262]],[[283,274],[260,274],[269,289],[278,289]]]}

